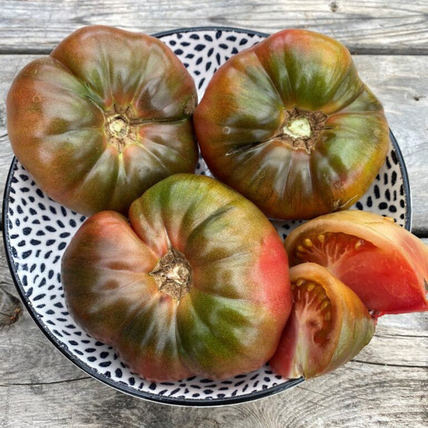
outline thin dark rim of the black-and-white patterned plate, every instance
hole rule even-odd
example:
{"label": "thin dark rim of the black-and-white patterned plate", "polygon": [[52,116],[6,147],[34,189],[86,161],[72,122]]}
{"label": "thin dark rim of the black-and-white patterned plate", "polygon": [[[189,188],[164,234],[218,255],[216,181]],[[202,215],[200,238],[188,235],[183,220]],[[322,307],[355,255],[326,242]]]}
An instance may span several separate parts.
{"label": "thin dark rim of the black-and-white patterned plate", "polygon": [[[198,31],[230,31],[230,32],[239,32],[244,34],[250,34],[253,36],[263,36],[267,37],[270,34],[263,33],[262,31],[255,31],[252,29],[241,29],[230,26],[195,26],[195,27],[186,27],[180,29],[170,29],[167,31],[160,31],[152,36],[160,39],[164,36],[171,36],[173,34],[178,33],[186,33],[186,32],[198,32]],[[407,174],[407,168],[404,163],[404,158],[402,156],[402,152],[399,148],[396,138],[392,133],[391,129],[389,129],[389,138],[392,143],[392,147],[397,155],[399,168],[402,173],[402,180],[404,186],[404,198],[406,203],[406,213],[404,218],[404,228],[407,230],[411,230],[412,228],[412,198],[410,195],[410,185],[409,185],[409,176]],[[145,392],[142,390],[138,390],[136,388],[132,388],[127,384],[113,381],[113,379],[105,377],[103,374],[99,373],[93,367],[86,365],[82,360],[78,360],[76,355],[74,355],[68,348],[67,345],[63,344],[54,334],[49,330],[49,328],[41,322],[41,318],[39,313],[36,311],[34,306],[31,304],[29,298],[26,296],[24,292],[24,287],[21,283],[21,279],[16,271],[16,268],[13,263],[12,251],[11,251],[11,243],[9,237],[9,228],[7,227],[8,223],[8,213],[9,213],[9,198],[10,198],[10,190],[12,179],[14,177],[14,170],[16,168],[16,164],[18,163],[18,159],[16,156],[13,156],[11,161],[11,166],[9,168],[9,173],[6,178],[6,184],[4,187],[4,195],[2,202],[2,228],[3,228],[3,243],[6,255],[6,261],[9,267],[9,271],[11,272],[11,277],[16,287],[16,290],[21,297],[21,301],[24,303],[26,310],[31,315],[32,320],[35,322],[36,326],[39,327],[39,330],[44,333],[44,335],[49,339],[49,341],[56,347],[56,349],[61,352],[61,354],[67,358],[68,361],[71,361],[73,365],[78,367],[80,370],[98,380],[102,384],[107,385],[113,389],[116,389],[120,392],[124,392],[128,395],[136,397],[138,399],[146,399],[151,402],[157,402],[160,404],[170,404],[173,406],[180,407],[218,407],[232,404],[240,404],[244,402],[252,402],[257,399],[262,399],[264,397],[268,397],[273,394],[277,394],[279,392],[285,391],[292,387],[295,387],[297,384],[304,382],[305,379],[303,377],[297,379],[288,379],[286,382],[281,384],[277,384],[274,387],[270,387],[267,389],[262,389],[258,392],[251,392],[248,394],[242,394],[235,397],[220,397],[220,398],[180,398],[180,397],[168,397],[162,396],[158,394],[151,394],[149,392]]]}

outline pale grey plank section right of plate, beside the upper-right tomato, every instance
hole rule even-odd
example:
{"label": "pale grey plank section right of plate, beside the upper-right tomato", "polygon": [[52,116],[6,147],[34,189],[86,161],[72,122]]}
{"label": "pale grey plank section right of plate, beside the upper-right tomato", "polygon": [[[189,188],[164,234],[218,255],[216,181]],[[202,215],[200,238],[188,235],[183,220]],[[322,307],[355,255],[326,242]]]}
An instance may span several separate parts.
{"label": "pale grey plank section right of plate, beside the upper-right tomato", "polygon": [[354,61],[382,102],[402,151],[412,194],[412,231],[428,236],[428,82],[423,77],[428,56],[356,55]]}

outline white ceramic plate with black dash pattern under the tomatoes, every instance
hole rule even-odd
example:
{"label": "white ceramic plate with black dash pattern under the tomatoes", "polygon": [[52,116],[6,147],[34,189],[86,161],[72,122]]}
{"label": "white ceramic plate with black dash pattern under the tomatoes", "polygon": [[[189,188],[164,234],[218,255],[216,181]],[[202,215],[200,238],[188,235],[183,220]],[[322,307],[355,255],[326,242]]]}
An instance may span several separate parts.
{"label": "white ceramic plate with black dash pattern under the tomatoes", "polygon": [[[214,71],[230,56],[264,39],[242,29],[198,28],[156,34],[195,79],[199,99]],[[201,160],[197,173],[209,175]],[[180,382],[148,382],[130,372],[111,347],[83,332],[68,315],[61,286],[61,255],[85,218],[48,198],[14,159],[3,207],[4,242],[12,276],[29,313],[69,360],[101,382],[136,397],[169,404],[213,406],[246,402],[302,382],[287,380],[268,365],[255,372],[213,382],[189,377]],[[394,136],[387,160],[372,187],[353,208],[394,218],[410,229],[407,173]],[[299,222],[275,222],[283,238]]]}

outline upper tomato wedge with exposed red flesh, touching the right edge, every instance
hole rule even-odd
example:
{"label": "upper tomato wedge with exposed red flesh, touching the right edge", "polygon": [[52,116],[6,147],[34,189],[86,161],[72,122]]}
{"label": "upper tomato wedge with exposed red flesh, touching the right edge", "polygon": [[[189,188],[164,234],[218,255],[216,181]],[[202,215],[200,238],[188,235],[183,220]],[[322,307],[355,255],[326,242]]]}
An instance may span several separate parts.
{"label": "upper tomato wedge with exposed red flesh, touching the right edge", "polygon": [[428,310],[428,248],[382,215],[346,210],[307,221],[285,239],[290,264],[319,263],[377,315]]}

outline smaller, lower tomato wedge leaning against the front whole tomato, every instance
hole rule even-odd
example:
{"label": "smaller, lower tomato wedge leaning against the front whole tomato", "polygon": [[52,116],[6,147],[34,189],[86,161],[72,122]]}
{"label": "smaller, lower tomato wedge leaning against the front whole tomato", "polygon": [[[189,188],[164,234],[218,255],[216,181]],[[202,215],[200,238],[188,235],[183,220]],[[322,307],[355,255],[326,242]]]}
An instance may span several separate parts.
{"label": "smaller, lower tomato wedge leaning against the front whole tomato", "polygon": [[290,269],[293,307],[270,360],[287,378],[315,377],[355,357],[372,339],[376,320],[343,282],[315,263]]}

